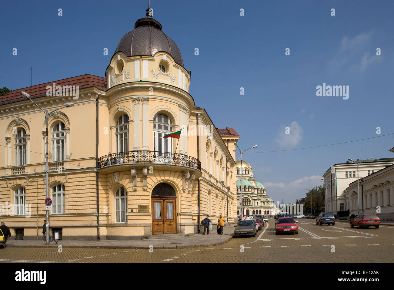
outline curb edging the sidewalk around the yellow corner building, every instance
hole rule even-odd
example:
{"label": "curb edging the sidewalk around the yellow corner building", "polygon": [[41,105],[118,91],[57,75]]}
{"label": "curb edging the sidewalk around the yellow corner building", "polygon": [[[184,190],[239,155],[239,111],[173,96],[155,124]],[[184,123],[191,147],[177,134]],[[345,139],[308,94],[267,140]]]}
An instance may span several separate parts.
{"label": "curb edging the sidewalk around the yellow corner building", "polygon": [[[213,243],[205,243],[205,244],[194,244],[194,245],[156,245],[154,246],[154,249],[189,249],[189,248],[197,248],[197,247],[212,247],[216,245],[223,245],[224,243],[227,243],[232,237],[234,236],[234,233],[229,235],[229,238],[225,239],[224,241],[220,242],[213,242]],[[38,249],[58,249],[58,245],[7,245],[7,248],[38,248]],[[138,249],[138,250],[149,250],[149,246],[147,245],[134,245],[134,246],[109,246],[109,245],[104,245],[104,246],[84,246],[84,245],[63,245],[63,249]]]}

